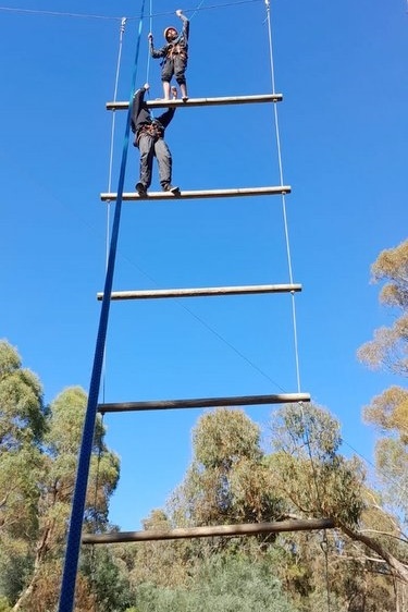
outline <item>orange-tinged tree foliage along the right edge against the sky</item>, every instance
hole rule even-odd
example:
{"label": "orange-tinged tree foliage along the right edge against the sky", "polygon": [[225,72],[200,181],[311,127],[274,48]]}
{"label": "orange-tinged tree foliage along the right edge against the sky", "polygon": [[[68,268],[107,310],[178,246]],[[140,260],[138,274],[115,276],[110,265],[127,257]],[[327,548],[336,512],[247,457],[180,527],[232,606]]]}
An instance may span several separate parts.
{"label": "orange-tinged tree foliage along the right edge against the sky", "polygon": [[[408,375],[408,240],[383,250],[372,266],[372,278],[384,281],[380,302],[399,317],[388,328],[374,331],[374,339],[363,344],[358,357],[371,368]],[[381,433],[375,461],[384,499],[408,521],[408,391],[393,385],[371,400],[363,418]]]}

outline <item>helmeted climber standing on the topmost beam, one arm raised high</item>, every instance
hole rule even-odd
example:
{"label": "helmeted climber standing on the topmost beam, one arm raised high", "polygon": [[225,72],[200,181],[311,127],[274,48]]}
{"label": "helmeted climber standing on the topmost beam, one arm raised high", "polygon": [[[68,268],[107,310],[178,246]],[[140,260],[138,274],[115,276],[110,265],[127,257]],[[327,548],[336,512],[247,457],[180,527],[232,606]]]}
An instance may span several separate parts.
{"label": "helmeted climber standing on the topmost beam, one arm raised high", "polygon": [[150,56],[152,58],[163,58],[161,62],[161,81],[163,83],[164,99],[170,99],[170,82],[174,76],[180,85],[182,99],[185,102],[188,99],[185,72],[188,59],[189,21],[181,9],[175,14],[183,22],[181,34],[173,26],[166,27],[163,33],[165,45],[161,49],[154,49],[151,32],[148,35],[148,39]]}

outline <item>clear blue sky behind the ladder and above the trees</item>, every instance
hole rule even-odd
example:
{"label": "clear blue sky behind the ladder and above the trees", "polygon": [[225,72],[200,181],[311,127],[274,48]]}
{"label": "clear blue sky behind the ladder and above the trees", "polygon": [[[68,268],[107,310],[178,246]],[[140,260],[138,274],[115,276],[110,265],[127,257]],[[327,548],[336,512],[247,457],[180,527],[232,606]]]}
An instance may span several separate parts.
{"label": "clear blue sky behind the ladder and above the trees", "polygon": [[[157,45],[166,25],[178,26],[176,9],[193,16],[190,97],[270,93],[264,2],[198,5],[152,2]],[[407,5],[276,0],[271,8],[292,265],[304,287],[296,296],[301,390],[372,461],[361,407],[399,381],[366,370],[356,351],[392,320],[369,283],[370,266],[407,237]],[[104,105],[122,16],[118,99],[129,98],[139,12],[139,2],[120,0],[0,8],[0,336],[38,374],[47,402],[65,387],[89,388],[106,266],[99,194],[108,186],[112,114]],[[148,76],[154,98],[160,66],[150,62],[147,75],[149,27],[147,19],[137,83]],[[113,191],[125,114],[116,113]],[[270,105],[181,109],[166,139],[182,189],[279,183]],[[137,166],[131,146],[125,191]],[[280,197],[123,205],[116,290],[285,282]],[[103,382],[106,402],[296,392],[290,297],[113,303]],[[248,414],[263,425],[270,412]],[[122,457],[112,522],[136,529],[164,504],[190,460],[199,414],[106,417],[107,442]]]}

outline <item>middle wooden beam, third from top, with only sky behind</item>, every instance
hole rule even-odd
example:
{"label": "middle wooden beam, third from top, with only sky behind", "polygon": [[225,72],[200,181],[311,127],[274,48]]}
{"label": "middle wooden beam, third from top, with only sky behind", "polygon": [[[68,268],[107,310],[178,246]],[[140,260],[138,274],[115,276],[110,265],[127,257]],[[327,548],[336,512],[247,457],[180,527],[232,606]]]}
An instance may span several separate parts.
{"label": "middle wooden beam, third from top, with only sky behind", "polygon": [[[201,297],[213,295],[242,295],[254,293],[292,293],[301,291],[300,284],[261,284],[243,286],[207,286],[194,289],[157,289],[138,291],[114,291],[111,299],[148,299],[163,297]],[[103,293],[97,293],[99,301],[103,299]]]}

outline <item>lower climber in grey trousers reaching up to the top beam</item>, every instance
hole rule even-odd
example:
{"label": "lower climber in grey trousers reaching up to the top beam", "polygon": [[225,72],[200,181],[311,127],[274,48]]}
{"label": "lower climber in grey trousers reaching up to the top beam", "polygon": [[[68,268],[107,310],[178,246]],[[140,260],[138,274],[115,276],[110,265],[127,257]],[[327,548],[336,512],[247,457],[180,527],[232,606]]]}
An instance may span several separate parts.
{"label": "lower climber in grey trousers reaching up to the top beam", "polygon": [[[145,93],[149,89],[146,83],[138,89],[132,103],[132,132],[135,134],[134,146],[140,151],[140,176],[136,183],[136,192],[140,197],[147,196],[147,189],[151,183],[153,157],[159,164],[159,179],[163,192],[180,195],[180,188],[171,184],[172,181],[172,156],[164,142],[164,131],[174,117],[175,108],[169,108],[157,119],[150,114],[145,102]],[[177,88],[172,87],[173,99],[177,97]]]}

